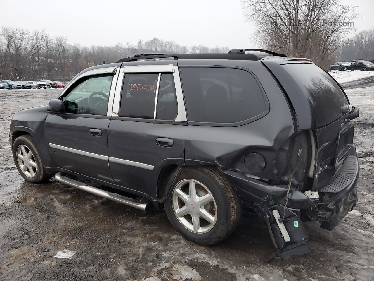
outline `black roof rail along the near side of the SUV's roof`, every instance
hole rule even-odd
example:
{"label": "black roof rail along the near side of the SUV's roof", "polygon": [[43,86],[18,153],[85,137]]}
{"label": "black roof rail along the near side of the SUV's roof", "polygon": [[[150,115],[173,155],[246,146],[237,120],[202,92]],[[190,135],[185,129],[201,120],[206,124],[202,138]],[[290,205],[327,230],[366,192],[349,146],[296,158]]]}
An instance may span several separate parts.
{"label": "black roof rail along the near side of the SUV's roof", "polygon": [[252,53],[237,53],[237,54],[225,54],[225,53],[207,53],[207,54],[144,54],[137,57],[121,58],[117,63],[125,63],[128,61],[137,60],[151,60],[157,58],[175,58],[181,60],[261,60],[261,57]]}

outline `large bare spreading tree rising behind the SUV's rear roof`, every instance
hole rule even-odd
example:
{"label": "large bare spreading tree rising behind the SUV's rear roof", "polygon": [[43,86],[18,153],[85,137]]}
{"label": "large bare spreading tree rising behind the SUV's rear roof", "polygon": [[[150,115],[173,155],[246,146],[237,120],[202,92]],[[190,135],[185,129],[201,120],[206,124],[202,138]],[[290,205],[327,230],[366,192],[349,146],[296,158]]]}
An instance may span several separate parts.
{"label": "large bare spreading tree rising behind the SUV's rear roof", "polygon": [[242,0],[246,18],[257,27],[260,45],[324,66],[355,31],[353,6],[341,0]]}

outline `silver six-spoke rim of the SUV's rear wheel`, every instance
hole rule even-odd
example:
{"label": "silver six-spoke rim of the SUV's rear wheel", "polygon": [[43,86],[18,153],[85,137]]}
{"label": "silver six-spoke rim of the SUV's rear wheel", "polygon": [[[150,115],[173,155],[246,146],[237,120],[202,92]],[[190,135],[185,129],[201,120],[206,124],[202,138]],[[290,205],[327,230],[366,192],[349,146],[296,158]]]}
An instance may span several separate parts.
{"label": "silver six-spoke rim of the SUV's rear wheel", "polygon": [[217,222],[217,204],[209,189],[194,179],[175,185],[172,207],[178,221],[194,233],[206,233]]}

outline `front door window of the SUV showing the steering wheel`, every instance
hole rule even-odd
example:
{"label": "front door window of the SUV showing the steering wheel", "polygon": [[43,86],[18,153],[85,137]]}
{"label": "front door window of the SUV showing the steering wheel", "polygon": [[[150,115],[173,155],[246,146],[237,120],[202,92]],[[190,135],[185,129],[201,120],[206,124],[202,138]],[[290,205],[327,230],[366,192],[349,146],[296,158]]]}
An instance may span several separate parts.
{"label": "front door window of the SUV showing the steering wheel", "polygon": [[107,115],[113,74],[88,76],[62,98],[67,113]]}

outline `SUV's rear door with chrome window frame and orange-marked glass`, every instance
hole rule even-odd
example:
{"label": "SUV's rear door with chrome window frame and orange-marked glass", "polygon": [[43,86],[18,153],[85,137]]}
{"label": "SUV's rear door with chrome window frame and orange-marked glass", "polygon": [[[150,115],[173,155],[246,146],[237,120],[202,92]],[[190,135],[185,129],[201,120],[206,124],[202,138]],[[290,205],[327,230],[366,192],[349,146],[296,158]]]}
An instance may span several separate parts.
{"label": "SUV's rear door with chrome window frame and orange-marked glass", "polygon": [[186,111],[176,62],[169,63],[122,67],[108,131],[116,184],[154,199],[160,171],[184,164]]}

